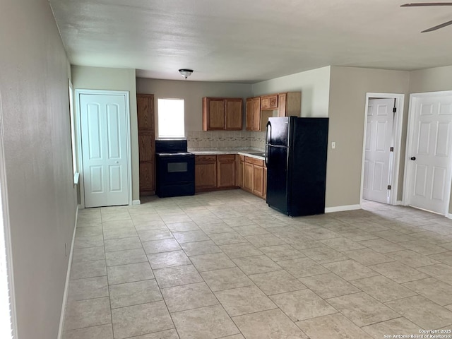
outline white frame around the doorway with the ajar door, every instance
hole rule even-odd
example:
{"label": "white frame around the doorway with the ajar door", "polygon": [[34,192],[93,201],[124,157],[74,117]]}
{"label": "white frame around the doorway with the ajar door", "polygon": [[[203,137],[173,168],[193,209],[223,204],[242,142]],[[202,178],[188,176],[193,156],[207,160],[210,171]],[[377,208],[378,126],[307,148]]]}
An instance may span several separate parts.
{"label": "white frame around the doorway with the ajar door", "polygon": [[364,109],[364,133],[362,139],[362,167],[361,167],[361,186],[359,188],[359,206],[362,206],[362,192],[364,190],[364,160],[366,157],[366,130],[367,130],[367,109],[369,107],[369,99],[395,99],[396,114],[393,120],[393,139],[394,153],[393,166],[390,177],[393,178],[391,183],[391,191],[389,192],[389,205],[398,205],[398,176],[400,172],[400,148],[402,146],[402,125],[403,125],[403,109],[405,104],[405,94],[400,93],[366,93],[366,106]]}

